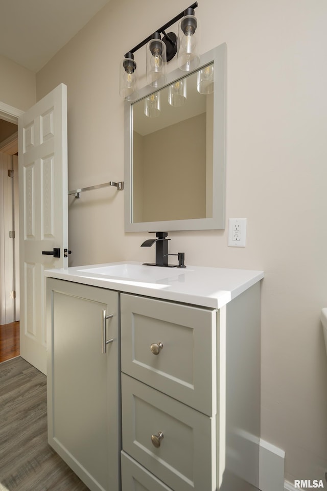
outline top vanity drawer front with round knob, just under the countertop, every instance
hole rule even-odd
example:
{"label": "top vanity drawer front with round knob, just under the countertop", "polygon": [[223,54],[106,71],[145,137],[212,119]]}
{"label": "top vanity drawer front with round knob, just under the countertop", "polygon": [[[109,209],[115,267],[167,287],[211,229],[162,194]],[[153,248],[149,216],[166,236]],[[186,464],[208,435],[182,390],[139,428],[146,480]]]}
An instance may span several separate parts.
{"label": "top vanity drawer front with round knob, just under the countertop", "polygon": [[216,310],[122,294],[121,339],[123,372],[216,413]]}

